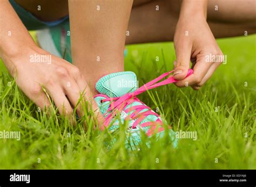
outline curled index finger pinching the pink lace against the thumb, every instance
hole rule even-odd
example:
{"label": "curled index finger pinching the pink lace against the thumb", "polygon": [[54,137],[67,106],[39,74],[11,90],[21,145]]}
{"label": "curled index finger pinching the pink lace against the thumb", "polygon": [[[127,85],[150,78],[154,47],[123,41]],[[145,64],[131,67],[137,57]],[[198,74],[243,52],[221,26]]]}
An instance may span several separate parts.
{"label": "curled index finger pinching the pink lace against the thumb", "polygon": [[194,72],[191,76],[174,84],[177,85],[177,87],[187,87],[188,85],[193,87],[198,85],[201,80],[203,80],[207,71],[213,65],[213,62],[207,62],[205,60],[205,56],[205,54],[200,54],[197,56],[197,62],[194,64]]}

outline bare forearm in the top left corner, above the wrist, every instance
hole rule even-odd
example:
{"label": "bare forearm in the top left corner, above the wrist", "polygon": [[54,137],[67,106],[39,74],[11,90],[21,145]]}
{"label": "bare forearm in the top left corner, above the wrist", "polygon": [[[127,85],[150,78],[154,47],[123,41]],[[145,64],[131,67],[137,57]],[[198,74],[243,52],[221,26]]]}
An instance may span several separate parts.
{"label": "bare forearm in the top left corner, above the wrist", "polygon": [[0,28],[0,57],[5,66],[10,65],[10,59],[36,47],[8,0],[0,0]]}

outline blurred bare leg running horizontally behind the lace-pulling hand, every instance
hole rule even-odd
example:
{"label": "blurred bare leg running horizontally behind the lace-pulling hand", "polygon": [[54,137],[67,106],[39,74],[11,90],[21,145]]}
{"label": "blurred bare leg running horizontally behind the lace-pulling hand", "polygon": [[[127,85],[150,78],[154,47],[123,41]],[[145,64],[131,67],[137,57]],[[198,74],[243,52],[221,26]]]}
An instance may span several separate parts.
{"label": "blurred bare leg running horizontally behind the lace-pulling hand", "polygon": [[[134,1],[136,2],[136,1]],[[215,38],[233,37],[256,32],[254,0],[209,0],[207,22]],[[159,10],[156,10],[156,6]],[[215,10],[215,5],[218,10]],[[134,6],[126,44],[173,41],[179,18],[180,1],[157,0]]]}

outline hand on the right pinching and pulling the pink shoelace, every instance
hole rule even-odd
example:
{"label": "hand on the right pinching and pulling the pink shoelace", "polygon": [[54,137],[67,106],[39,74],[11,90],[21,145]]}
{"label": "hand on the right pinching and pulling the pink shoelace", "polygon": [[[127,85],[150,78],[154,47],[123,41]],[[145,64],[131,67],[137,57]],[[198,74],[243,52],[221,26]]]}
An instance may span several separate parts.
{"label": "hand on the right pinching and pulling the pink shoelace", "polygon": [[[173,76],[181,80],[175,83],[177,87],[191,86],[198,90],[223,61],[223,53],[203,13],[181,12],[174,34],[174,48],[177,60],[174,61]],[[194,73],[185,78],[190,61]]]}

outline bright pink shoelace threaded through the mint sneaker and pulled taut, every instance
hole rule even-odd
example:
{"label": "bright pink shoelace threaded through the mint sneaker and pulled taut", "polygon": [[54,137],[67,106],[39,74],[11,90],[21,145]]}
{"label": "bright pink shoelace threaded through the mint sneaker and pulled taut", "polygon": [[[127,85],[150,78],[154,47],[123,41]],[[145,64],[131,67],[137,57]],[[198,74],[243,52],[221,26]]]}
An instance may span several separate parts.
{"label": "bright pink shoelace threaded through the mint sneaker and pulled taut", "polygon": [[[144,84],[142,87],[138,88],[136,91],[132,92],[132,93],[126,93],[125,95],[121,96],[121,97],[107,97],[106,99],[103,99],[102,102],[107,102],[110,101],[111,104],[109,106],[109,109],[106,111],[106,113],[104,114],[104,116],[110,112],[107,117],[105,118],[105,122],[104,122],[104,126],[109,126],[111,120],[117,115],[117,113],[120,113],[121,111],[123,111],[123,109],[125,109],[125,107],[127,105],[132,104],[133,102],[140,102],[142,103],[136,96],[139,95],[140,93],[143,93],[147,90],[151,90],[153,88],[157,88],[160,87],[162,85],[166,85],[166,84],[171,84],[174,82],[177,82],[177,80],[174,79],[173,76],[170,76],[168,78],[166,78],[164,81],[159,82],[161,79],[163,79],[164,77],[170,75],[171,73],[173,73],[174,70],[166,72],[162,75],[160,75],[159,77],[155,78],[154,80]],[[193,73],[192,69],[188,69],[187,75],[186,77],[190,76]],[[105,97],[105,96],[104,96]],[[148,109],[145,112],[140,112],[144,109]],[[112,112],[111,112],[112,111]],[[140,122],[142,122],[147,116],[149,115],[154,115],[157,116],[158,119],[156,121],[148,121],[145,122],[143,124],[140,124],[141,127],[146,127],[146,126],[152,126],[152,128],[150,128],[147,131],[147,135],[151,135],[152,131],[155,130],[157,125],[161,125],[163,124],[162,121],[159,119],[159,115],[155,112],[152,111],[152,109],[150,109],[149,106],[146,106],[144,103],[142,103],[142,105],[137,105],[137,106],[131,106],[128,109],[125,109],[124,112],[128,113],[133,111],[129,116],[127,116],[125,118],[125,120],[129,119],[137,119],[136,121],[134,121],[132,128],[136,128],[137,125],[139,125]],[[160,127],[158,128],[158,132],[163,131],[164,128]]]}

